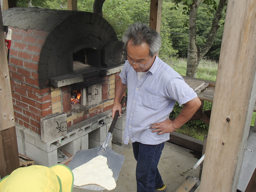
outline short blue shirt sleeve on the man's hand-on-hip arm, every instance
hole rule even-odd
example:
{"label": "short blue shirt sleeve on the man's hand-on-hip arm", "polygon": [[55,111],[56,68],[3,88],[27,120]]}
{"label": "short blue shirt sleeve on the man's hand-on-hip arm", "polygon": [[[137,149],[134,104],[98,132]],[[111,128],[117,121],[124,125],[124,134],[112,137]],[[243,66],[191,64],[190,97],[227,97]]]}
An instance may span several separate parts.
{"label": "short blue shirt sleeve on the man's hand-on-hip arm", "polygon": [[167,85],[167,92],[171,99],[180,105],[191,101],[197,97],[195,91],[189,87],[181,76],[176,76]]}

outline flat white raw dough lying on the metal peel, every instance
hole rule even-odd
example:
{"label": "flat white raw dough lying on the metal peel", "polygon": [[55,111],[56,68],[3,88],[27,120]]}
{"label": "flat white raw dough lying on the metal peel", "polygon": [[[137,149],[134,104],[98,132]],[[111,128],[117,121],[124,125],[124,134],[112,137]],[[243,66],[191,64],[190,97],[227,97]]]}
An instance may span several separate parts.
{"label": "flat white raw dough lying on the metal peel", "polygon": [[76,167],[72,172],[75,186],[96,184],[107,190],[116,188],[116,181],[112,177],[113,172],[108,168],[107,157],[102,155]]}

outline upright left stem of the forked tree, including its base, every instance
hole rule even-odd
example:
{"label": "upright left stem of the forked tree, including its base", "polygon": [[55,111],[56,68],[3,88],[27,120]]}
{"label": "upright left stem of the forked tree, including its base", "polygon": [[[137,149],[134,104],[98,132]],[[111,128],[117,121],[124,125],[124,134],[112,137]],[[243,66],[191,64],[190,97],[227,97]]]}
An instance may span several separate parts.
{"label": "upright left stem of the forked tree, including its base", "polygon": [[198,67],[198,50],[196,46],[196,12],[202,0],[190,5],[189,11],[189,47],[187,56],[186,76],[195,77]]}

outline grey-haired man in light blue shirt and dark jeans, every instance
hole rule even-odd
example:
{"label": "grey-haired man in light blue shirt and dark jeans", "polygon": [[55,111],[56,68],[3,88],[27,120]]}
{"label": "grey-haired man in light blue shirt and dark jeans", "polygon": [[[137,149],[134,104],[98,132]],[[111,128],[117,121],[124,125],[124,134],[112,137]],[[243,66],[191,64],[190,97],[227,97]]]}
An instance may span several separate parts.
{"label": "grey-haired man in light blue shirt and dark jeans", "polygon": [[[166,185],[157,169],[169,133],[186,123],[200,107],[197,94],[182,77],[157,57],[160,35],[143,23],[131,25],[123,37],[127,48],[116,93],[112,117],[122,114],[120,99],[128,88],[124,143],[131,139],[137,160],[137,192],[164,192]],[[175,102],[183,109],[174,121],[169,113]]]}

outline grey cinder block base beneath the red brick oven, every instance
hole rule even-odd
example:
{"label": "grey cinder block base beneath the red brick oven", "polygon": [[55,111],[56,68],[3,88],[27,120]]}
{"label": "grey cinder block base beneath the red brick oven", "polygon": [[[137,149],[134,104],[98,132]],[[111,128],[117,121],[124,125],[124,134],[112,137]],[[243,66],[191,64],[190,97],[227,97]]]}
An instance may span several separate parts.
{"label": "grey cinder block base beneath the red brick oven", "polygon": [[[108,122],[107,125],[99,123],[99,121],[105,121],[105,119]],[[119,124],[123,125],[123,119],[125,119],[125,115],[122,115],[122,118],[118,120],[118,127]],[[57,149],[59,147],[62,147],[70,154],[76,154],[81,149],[95,148],[102,145],[106,139],[111,122],[110,110],[69,127],[66,135],[55,138],[47,143],[42,142],[41,136],[34,131],[16,124],[18,151],[20,154],[35,160],[35,164],[48,167],[53,166],[58,163]],[[115,129],[113,131],[113,139],[115,135],[119,143],[123,138],[124,131],[122,129],[124,130],[124,128],[122,126],[120,129]],[[110,148],[112,148],[111,140],[112,137],[108,143]]]}

